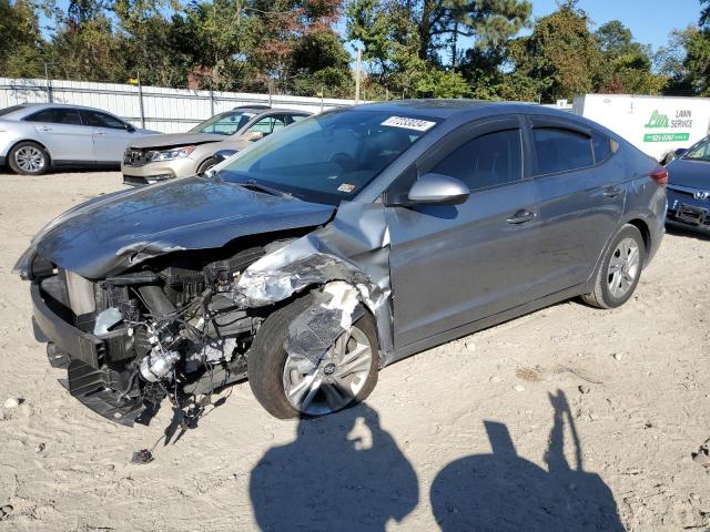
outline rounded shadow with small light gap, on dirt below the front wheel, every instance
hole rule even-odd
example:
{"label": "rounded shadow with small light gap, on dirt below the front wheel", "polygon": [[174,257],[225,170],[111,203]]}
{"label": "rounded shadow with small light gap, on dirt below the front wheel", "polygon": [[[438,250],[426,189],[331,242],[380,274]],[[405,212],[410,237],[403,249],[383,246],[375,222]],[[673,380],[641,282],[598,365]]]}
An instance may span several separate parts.
{"label": "rounded shadow with small light gap, on dirt below the front wheel", "polygon": [[292,443],[266,451],[250,497],[262,531],[384,531],[418,502],[417,475],[377,412],[361,403],[298,422]]}

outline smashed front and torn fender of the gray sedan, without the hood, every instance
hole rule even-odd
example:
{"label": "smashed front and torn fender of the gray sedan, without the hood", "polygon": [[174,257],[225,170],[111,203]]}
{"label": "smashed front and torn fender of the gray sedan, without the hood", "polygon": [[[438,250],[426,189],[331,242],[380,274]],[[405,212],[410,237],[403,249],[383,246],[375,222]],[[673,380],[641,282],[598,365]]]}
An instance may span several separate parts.
{"label": "smashed front and torn fender of the gray sedan, without the hood", "polygon": [[[303,231],[303,229],[302,229]],[[305,293],[313,304],[288,326],[283,348],[317,368],[363,313],[390,346],[388,277],[373,282],[328,243],[332,226],[268,244],[166,253],[99,280],[57,267],[36,252],[18,269],[31,279],[37,339],[83,405],[121,424],[148,423],[164,398],[174,407],[247,378],[255,335],[280,305]],[[367,262],[386,272],[382,241]],[[373,258],[375,257],[375,258]],[[378,366],[384,358],[379,354]]]}

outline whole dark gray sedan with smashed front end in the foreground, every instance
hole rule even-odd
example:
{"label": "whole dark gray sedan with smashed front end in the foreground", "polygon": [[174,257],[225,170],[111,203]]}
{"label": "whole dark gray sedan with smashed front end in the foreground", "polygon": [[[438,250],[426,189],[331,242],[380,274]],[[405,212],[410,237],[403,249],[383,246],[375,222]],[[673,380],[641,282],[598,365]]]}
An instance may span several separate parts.
{"label": "whole dark gray sedan with smashed front end in the foreground", "polygon": [[[588,120],[405,101],[304,120],[214,168],[95,198],[16,270],[71,393],[145,422],[248,378],[280,418],[364,399],[406,356],[633,293],[667,174]],[[195,413],[196,412],[196,413]]]}

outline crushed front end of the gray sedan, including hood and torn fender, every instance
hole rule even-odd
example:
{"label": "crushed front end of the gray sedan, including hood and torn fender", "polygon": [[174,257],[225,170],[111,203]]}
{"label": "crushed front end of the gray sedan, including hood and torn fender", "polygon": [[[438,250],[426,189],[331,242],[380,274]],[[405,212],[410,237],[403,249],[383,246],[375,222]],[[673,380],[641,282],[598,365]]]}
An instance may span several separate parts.
{"label": "crushed front end of the gray sedan, including hood and torn fender", "polygon": [[[390,361],[382,205],[342,204],[334,216],[332,206],[224,183],[149,188],[62,215],[16,266],[31,282],[37,339],[87,407],[145,423],[166,397],[182,409],[246,379],[262,324],[307,293],[313,305],[288,327],[288,355],[318,366],[367,311],[377,366]],[[186,191],[200,202],[185,203]]]}

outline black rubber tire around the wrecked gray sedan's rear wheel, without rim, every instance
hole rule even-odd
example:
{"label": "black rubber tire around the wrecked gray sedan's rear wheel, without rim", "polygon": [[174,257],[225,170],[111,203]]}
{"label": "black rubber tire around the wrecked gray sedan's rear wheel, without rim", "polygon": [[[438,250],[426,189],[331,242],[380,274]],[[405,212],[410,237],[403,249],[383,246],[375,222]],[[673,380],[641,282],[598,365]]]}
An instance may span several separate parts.
{"label": "black rubber tire around the wrecked gray sedan's rear wheel, without rim", "polygon": [[[609,264],[611,263],[611,259],[613,257],[619,257],[619,244],[627,238],[631,238],[636,243],[639,253],[639,263],[633,275],[633,282],[628,286],[623,294],[615,295],[611,293],[611,288],[609,286],[611,279]],[[645,258],[646,244],[639,229],[629,224],[621,227],[621,231],[609,244],[609,247],[605,252],[604,259],[601,260],[601,264],[599,265],[599,268],[595,274],[594,290],[582,296],[585,303],[597,308],[616,308],[623,305],[633,295],[633,291],[639,284],[639,279],[641,278],[641,270],[643,269]]]}

